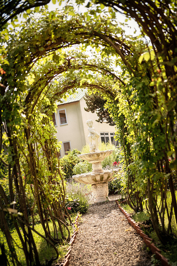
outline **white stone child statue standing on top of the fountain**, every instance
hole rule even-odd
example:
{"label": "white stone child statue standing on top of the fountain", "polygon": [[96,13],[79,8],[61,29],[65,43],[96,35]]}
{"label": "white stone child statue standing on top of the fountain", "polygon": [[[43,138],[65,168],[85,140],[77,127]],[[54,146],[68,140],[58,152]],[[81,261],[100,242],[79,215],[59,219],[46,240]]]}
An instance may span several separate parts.
{"label": "white stone child statue standing on top of the fountain", "polygon": [[93,121],[91,119],[87,120],[86,122],[89,131],[88,139],[89,139],[89,146],[90,146],[90,152],[99,152],[98,149],[98,138],[99,138],[99,133],[96,132],[95,128],[93,126]]}

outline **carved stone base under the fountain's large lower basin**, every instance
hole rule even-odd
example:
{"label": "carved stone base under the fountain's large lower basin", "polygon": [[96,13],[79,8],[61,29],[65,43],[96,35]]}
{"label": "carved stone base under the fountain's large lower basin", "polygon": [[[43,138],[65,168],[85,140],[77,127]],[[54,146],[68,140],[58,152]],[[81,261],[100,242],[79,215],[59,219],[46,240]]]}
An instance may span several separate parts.
{"label": "carved stone base under the fountain's large lower basin", "polygon": [[92,194],[95,197],[95,203],[106,201],[108,198],[108,182],[92,185]]}

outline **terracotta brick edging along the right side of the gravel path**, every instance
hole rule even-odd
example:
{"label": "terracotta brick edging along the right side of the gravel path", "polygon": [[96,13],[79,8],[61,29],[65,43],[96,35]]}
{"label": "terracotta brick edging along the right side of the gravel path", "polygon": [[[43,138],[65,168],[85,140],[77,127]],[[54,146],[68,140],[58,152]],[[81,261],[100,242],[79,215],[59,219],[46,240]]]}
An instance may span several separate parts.
{"label": "terracotta brick edging along the right side of the gravel path", "polygon": [[153,239],[149,238],[148,235],[144,234],[138,224],[132,218],[130,218],[130,215],[120,206],[118,200],[116,200],[116,204],[119,207],[120,211],[127,218],[128,223],[137,231],[137,234],[142,237],[146,246],[149,247],[152,253],[155,254],[156,258],[161,261],[162,266],[170,266],[170,264],[168,264],[168,260],[164,256],[162,256],[161,251],[152,243]]}

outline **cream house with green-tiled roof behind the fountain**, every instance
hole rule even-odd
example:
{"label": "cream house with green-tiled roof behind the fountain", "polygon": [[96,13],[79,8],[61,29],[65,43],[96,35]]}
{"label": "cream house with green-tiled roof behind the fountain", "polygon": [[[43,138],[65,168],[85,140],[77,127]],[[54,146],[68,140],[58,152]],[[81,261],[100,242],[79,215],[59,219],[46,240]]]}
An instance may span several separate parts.
{"label": "cream house with green-tiled roof behind the fountain", "polygon": [[88,119],[93,120],[93,127],[100,134],[98,141],[109,141],[118,146],[118,142],[113,139],[115,126],[110,126],[106,122],[96,122],[98,119],[96,112],[91,113],[84,110],[84,107],[87,107],[83,98],[85,92],[80,89],[77,92],[66,100],[62,99],[62,102],[58,103],[57,112],[53,114],[53,122],[57,130],[56,136],[58,141],[62,142],[61,157],[70,149],[81,151],[82,147],[89,143],[86,124]]}

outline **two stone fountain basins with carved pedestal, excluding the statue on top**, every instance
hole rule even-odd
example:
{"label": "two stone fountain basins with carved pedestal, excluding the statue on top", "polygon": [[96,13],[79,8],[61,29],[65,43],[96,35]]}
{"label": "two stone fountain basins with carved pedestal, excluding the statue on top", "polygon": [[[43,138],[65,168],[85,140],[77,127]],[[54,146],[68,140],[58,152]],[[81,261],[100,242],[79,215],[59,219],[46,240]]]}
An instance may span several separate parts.
{"label": "two stone fountain basins with carved pedestal, excluding the statue on top", "polygon": [[92,194],[95,197],[95,203],[108,200],[108,181],[111,181],[114,173],[119,172],[120,168],[103,170],[101,162],[113,151],[99,151],[94,153],[79,154],[82,160],[87,160],[92,164],[92,172],[77,174],[72,176],[74,180],[92,185]]}

